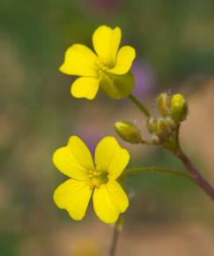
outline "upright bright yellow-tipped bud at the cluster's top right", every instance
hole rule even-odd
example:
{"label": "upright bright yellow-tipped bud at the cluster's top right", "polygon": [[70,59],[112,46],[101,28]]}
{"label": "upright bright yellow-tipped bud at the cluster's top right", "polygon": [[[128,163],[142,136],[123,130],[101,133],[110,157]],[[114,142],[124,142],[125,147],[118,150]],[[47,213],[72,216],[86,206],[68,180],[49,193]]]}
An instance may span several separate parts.
{"label": "upright bright yellow-tipped bud at the cluster's top right", "polygon": [[184,121],[188,116],[188,104],[181,94],[174,94],[170,104],[171,117],[177,123]]}

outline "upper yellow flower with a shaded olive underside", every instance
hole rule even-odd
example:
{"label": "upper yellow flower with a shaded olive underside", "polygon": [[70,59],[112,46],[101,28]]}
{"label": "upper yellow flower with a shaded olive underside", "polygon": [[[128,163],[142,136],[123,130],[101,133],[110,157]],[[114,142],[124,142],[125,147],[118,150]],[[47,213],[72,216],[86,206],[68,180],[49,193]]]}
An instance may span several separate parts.
{"label": "upper yellow flower with a shaded olive underside", "polygon": [[70,88],[74,97],[92,100],[99,87],[114,99],[130,94],[134,78],[129,70],[136,53],[130,46],[119,49],[121,37],[119,27],[100,26],[92,35],[96,53],[83,44],[73,44],[66,50],[60,71],[80,77]]}

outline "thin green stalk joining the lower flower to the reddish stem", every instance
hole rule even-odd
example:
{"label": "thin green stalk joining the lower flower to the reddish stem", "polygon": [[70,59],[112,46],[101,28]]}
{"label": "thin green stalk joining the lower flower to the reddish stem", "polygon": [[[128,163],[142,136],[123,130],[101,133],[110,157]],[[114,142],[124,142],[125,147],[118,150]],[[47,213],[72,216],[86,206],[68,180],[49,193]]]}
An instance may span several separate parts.
{"label": "thin green stalk joining the lower flower to the reddish stem", "polygon": [[159,168],[159,167],[138,167],[133,169],[126,169],[125,173],[127,175],[138,174],[138,173],[166,173],[166,174],[177,175],[180,177],[186,177],[194,181],[194,179],[186,172],[174,170],[174,169]]}

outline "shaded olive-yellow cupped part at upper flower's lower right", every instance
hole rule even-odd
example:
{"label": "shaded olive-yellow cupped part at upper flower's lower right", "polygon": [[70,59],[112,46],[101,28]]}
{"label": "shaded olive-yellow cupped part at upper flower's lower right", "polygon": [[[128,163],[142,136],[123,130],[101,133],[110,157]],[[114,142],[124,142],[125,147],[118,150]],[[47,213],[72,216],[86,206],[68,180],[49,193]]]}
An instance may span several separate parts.
{"label": "shaded olive-yellow cupped part at upper flower's lower right", "polygon": [[126,98],[133,87],[135,87],[135,79],[131,72],[124,75],[115,75],[108,72],[100,74],[100,88],[110,98]]}

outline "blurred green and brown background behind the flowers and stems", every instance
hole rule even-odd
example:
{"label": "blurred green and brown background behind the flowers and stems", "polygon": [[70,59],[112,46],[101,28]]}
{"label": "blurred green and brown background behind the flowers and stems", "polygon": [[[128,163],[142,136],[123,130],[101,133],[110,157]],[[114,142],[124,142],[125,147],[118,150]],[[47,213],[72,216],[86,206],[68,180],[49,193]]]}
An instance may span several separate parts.
{"label": "blurred green and brown background behind the flowers and stems", "polygon": [[[101,93],[92,102],[74,99],[72,78],[58,72],[65,49],[76,42],[91,47],[103,24],[122,27],[122,43],[137,49],[138,99],[155,111],[160,92],[186,96],[181,141],[214,184],[213,11],[212,0],[1,0],[0,255],[107,255],[112,228],[92,207],[82,222],[55,207],[53,191],[66,177],[51,162],[71,134],[92,149],[116,136],[113,124],[121,119],[144,134],[144,117],[128,100]],[[129,166],[183,169],[163,149],[121,143],[132,155]],[[214,206],[195,184],[148,174],[129,178],[127,191],[132,200],[118,256],[213,255]]]}

